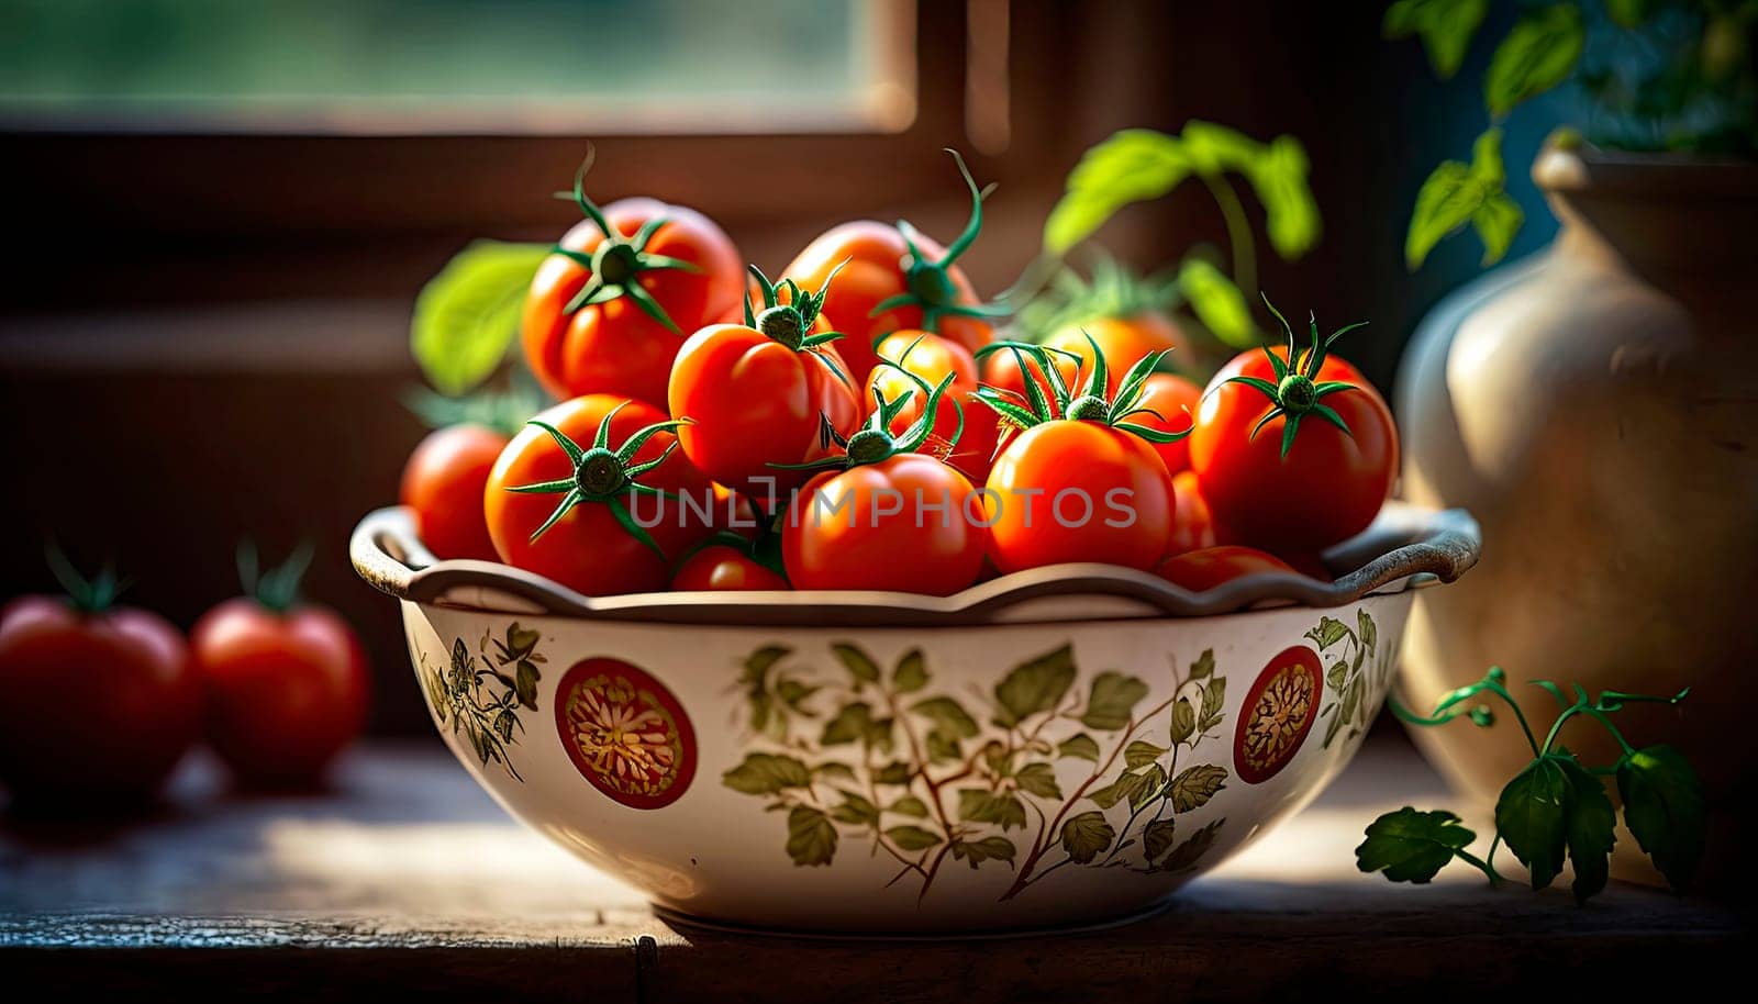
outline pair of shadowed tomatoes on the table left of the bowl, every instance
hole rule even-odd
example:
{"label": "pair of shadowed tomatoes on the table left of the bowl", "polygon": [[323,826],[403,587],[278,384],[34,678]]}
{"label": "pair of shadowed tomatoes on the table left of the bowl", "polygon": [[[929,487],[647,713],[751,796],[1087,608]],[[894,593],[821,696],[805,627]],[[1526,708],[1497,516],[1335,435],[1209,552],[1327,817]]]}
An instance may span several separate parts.
{"label": "pair of shadowed tomatoes on the table left of the bowl", "polygon": [[366,723],[369,670],[341,617],[299,601],[309,557],[257,575],[243,550],[248,594],[185,638],[116,605],[109,571],[86,580],[51,554],[67,596],[0,610],[0,689],[30,705],[0,731],[0,784],[21,802],[102,812],[156,791],[202,738],[241,784],[316,781]]}

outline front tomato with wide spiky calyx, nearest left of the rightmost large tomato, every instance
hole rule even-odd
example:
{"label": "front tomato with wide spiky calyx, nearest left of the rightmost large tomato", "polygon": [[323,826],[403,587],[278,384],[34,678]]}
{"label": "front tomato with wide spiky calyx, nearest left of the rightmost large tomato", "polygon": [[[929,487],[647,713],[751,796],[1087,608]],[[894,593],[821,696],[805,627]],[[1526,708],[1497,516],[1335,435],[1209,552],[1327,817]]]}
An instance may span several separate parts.
{"label": "front tomato with wide spiky calyx, nearest left of the rightmost large tomato", "polygon": [[1153,568],[1171,540],[1174,510],[1173,477],[1153,447],[1183,433],[1132,418],[1141,415],[1141,385],[1164,353],[1141,359],[1108,397],[1097,346],[1078,392],[1062,383],[1050,350],[1018,350],[1051,375],[1055,397],[1032,396],[1030,406],[1020,406],[1000,390],[983,390],[992,408],[1025,429],[1002,448],[983,491],[995,568],[1011,573],[1069,561]]}

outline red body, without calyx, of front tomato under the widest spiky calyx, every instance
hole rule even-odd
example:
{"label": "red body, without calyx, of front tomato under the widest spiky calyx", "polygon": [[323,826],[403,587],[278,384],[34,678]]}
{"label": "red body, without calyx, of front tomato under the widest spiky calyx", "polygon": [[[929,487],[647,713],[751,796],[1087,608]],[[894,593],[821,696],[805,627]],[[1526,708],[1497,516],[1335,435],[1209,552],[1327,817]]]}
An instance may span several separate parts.
{"label": "red body, without calyx, of front tomato under the widest spiky calyx", "polygon": [[1173,477],[1129,431],[1055,418],[1000,452],[983,508],[1002,573],[1065,561],[1146,570],[1173,533]]}

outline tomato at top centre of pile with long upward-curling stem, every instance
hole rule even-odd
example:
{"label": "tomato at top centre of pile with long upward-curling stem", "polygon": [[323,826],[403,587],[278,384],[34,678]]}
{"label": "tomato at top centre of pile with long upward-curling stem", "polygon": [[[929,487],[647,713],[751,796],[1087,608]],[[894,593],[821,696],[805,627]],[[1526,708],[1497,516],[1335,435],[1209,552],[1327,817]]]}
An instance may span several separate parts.
{"label": "tomato at top centre of pile with long upward-curling stem", "polygon": [[825,315],[835,331],[847,336],[842,357],[856,383],[865,382],[879,362],[874,345],[893,331],[933,331],[970,352],[993,338],[986,318],[995,311],[983,306],[956,266],[983,230],[983,193],[963,158],[948,153],[953,153],[970,188],[970,220],[949,246],[941,248],[904,222],[893,227],[856,220],[821,234],[786,269],[807,288],[823,288],[840,269],[837,287],[825,301]]}

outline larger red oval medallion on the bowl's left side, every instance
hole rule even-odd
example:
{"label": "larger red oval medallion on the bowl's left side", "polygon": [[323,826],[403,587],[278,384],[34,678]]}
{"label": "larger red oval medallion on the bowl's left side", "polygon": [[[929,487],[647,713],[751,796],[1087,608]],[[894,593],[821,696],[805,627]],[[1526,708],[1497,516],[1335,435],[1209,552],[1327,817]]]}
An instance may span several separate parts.
{"label": "larger red oval medallion on the bowl's left side", "polygon": [[622,659],[584,659],[563,675],[556,731],[580,775],[633,809],[677,802],[696,775],[696,731],[684,705]]}

